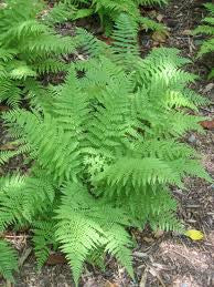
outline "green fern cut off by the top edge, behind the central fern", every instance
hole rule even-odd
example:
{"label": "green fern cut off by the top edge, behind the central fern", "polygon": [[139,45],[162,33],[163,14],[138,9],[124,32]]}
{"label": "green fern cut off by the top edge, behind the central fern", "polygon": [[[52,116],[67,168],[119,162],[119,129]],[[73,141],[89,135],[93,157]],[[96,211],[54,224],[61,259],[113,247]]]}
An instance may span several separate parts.
{"label": "green fern cut off by the top edge, behind the central fern", "polygon": [[106,34],[113,32],[114,23],[121,13],[132,17],[141,29],[164,31],[164,25],[141,17],[139,6],[164,4],[168,0],[61,0],[47,16],[53,23],[76,20],[92,14],[98,14]]}

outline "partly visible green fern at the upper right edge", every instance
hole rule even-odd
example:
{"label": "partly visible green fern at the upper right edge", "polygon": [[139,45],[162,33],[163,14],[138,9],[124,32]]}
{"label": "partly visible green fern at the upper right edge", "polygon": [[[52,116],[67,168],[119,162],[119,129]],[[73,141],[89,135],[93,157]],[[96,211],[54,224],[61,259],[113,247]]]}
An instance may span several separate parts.
{"label": "partly visible green fern at the upper right edge", "polygon": [[[202,24],[199,25],[193,32],[194,34],[206,34],[208,37],[208,39],[203,42],[200,49],[200,52],[197,54],[197,57],[200,58],[207,53],[211,53],[212,57],[214,52],[214,4],[206,3],[204,6],[208,11],[208,16],[202,20]],[[214,69],[212,69],[208,76],[214,76]]]}

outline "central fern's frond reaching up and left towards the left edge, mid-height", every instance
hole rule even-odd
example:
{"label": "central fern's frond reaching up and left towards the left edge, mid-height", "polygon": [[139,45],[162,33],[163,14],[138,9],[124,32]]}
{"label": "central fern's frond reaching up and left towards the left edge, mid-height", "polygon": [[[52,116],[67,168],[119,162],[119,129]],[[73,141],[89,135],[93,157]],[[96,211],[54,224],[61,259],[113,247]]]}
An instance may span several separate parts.
{"label": "central fern's frond reaching up and left towards the left edge, mid-height", "polygon": [[[13,131],[14,135],[20,136],[21,132],[24,143],[31,146],[32,158],[36,158],[44,170],[49,168],[49,174],[55,180],[61,182],[76,177],[79,164],[78,142],[65,133],[56,120],[49,114],[42,119],[39,113],[33,114],[24,110],[9,112],[3,117],[13,123],[11,132]],[[19,131],[18,134],[15,130]]]}

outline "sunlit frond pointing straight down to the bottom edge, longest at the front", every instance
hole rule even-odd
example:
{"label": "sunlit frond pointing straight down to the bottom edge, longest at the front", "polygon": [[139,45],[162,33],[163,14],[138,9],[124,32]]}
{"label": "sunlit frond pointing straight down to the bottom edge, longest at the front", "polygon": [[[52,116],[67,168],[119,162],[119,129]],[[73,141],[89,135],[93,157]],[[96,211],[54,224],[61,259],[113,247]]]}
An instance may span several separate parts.
{"label": "sunlit frond pointing straight down to the bottom edge, longest at the front", "polygon": [[[86,208],[86,206],[89,207],[92,198],[86,194],[89,202],[85,202],[85,208],[84,205],[79,205],[83,208],[81,211],[77,192],[82,194],[85,191],[82,191],[76,185],[71,185],[69,193],[66,189],[64,191],[66,194],[56,217],[58,219],[56,239],[61,243],[61,248],[66,254],[76,285],[83,269],[83,263],[89,252],[103,244],[103,229],[88,216]],[[74,194],[76,194],[75,197]],[[81,199],[83,195],[81,195]],[[69,205],[72,202],[73,204]]]}

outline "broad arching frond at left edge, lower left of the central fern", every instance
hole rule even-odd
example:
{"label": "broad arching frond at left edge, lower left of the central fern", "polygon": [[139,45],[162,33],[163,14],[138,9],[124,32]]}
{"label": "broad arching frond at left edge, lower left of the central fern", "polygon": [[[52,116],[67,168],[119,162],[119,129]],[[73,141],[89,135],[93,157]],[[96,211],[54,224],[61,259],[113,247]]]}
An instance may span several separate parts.
{"label": "broad arching frond at left edge, lower left of the central fern", "polygon": [[0,182],[0,229],[9,224],[31,222],[53,203],[55,193],[50,180],[14,175]]}

